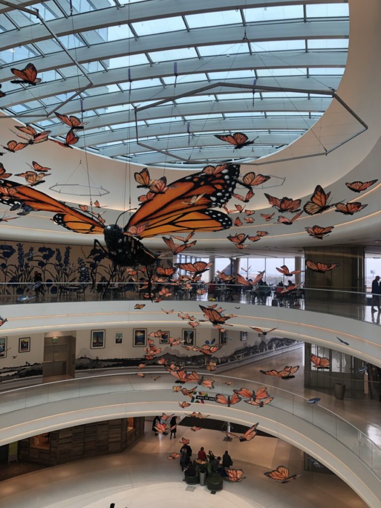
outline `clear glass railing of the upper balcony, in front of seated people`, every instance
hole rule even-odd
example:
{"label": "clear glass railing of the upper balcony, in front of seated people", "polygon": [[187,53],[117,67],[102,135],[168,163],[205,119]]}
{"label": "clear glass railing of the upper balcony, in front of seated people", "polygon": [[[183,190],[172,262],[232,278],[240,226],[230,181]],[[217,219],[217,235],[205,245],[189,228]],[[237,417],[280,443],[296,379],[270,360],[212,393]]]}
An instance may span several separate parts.
{"label": "clear glass railing of the upper balcony, in front of seated people", "polygon": [[[163,296],[161,291],[168,288],[170,295]],[[36,291],[37,289],[37,291]],[[118,282],[107,284],[98,282],[54,282],[44,283],[35,288],[33,283],[9,282],[0,283],[0,304],[29,304],[41,302],[68,302],[92,300],[143,300],[148,290],[143,284]],[[300,310],[324,312],[342,317],[351,317],[359,321],[380,324],[381,313],[378,312],[378,300],[373,302],[372,295],[365,292],[337,291],[331,289],[298,288],[287,293],[277,292],[276,286],[255,286],[248,289],[237,284],[214,284],[213,291],[208,284],[192,284],[192,288],[172,286],[170,283],[152,285],[153,298],[171,300],[211,301],[248,303],[253,305],[272,305],[290,307]],[[378,297],[377,297],[378,298]],[[381,298],[381,295],[380,297]]]}

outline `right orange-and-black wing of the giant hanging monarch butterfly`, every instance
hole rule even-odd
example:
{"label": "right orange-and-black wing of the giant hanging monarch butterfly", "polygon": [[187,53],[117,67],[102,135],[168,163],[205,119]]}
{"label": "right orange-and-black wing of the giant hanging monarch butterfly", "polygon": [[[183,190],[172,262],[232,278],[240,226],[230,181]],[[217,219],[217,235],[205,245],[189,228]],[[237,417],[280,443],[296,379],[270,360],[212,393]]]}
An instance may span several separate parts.
{"label": "right orange-and-black wing of the giant hanging monarch butterfly", "polygon": [[[125,229],[148,221],[149,226],[142,233],[142,238],[182,231],[228,229],[232,226],[231,219],[225,213],[210,208],[229,201],[238,176],[239,166],[228,165],[218,173],[201,171],[176,180],[166,192],[155,194],[150,201],[143,203]],[[203,200],[190,208],[184,207],[184,200],[200,194],[203,194]]]}

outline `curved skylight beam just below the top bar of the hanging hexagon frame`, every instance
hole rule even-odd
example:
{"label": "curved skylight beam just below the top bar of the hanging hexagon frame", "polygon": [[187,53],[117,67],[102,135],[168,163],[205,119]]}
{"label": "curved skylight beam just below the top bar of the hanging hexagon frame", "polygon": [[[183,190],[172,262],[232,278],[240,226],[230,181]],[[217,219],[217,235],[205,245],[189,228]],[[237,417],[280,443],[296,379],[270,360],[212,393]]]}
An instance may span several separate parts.
{"label": "curved skylight beam just below the top bar of the hanging hexagon frame", "polygon": [[[289,111],[289,112],[324,112],[331,103],[331,99],[315,98],[315,99],[263,99],[252,101],[245,99],[220,101],[220,102],[195,102],[188,104],[179,104],[177,106],[157,106],[139,113],[138,120],[150,120],[154,118],[170,118],[170,117],[190,117],[192,115],[208,115],[215,113],[241,113],[241,112],[272,112],[272,111]],[[271,115],[270,115],[271,116]],[[132,121],[134,115],[130,112],[130,120],[128,111],[118,111],[116,113],[106,113],[101,116],[90,116],[86,120],[89,122],[91,129],[103,127],[105,125],[113,125]],[[53,128],[54,129],[54,128]]]}

